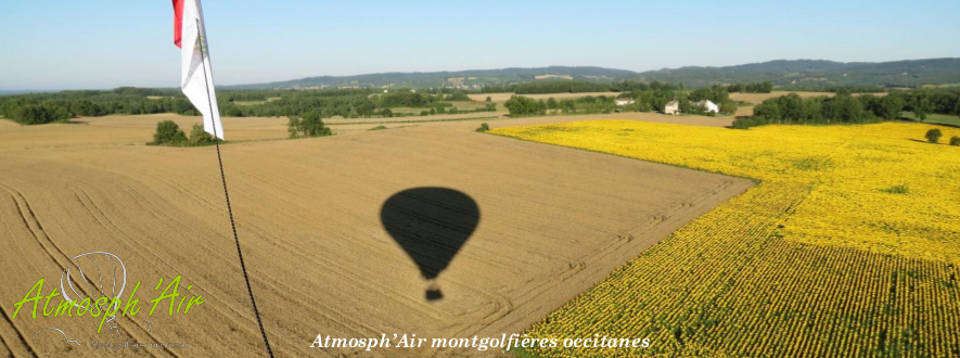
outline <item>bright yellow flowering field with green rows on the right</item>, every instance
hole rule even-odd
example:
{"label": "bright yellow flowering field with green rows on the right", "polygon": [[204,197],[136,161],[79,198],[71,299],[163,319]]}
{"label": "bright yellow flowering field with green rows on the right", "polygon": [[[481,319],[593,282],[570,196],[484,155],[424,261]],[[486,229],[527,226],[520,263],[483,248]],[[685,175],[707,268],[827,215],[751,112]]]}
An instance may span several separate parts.
{"label": "bright yellow flowering field with green rows on the right", "polygon": [[642,353],[668,356],[960,355],[960,148],[924,143],[933,127],[605,120],[495,129],[759,182],[527,334],[651,337]]}

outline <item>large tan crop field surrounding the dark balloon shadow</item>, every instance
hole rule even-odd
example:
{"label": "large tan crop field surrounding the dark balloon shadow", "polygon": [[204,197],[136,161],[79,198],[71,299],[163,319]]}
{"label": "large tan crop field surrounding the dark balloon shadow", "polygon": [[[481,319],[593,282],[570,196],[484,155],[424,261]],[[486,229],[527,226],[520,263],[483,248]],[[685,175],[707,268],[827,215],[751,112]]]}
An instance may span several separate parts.
{"label": "large tan crop field surrounding the dark balloon shadow", "polygon": [[[505,119],[524,125],[582,116]],[[710,117],[638,119],[725,125]],[[0,356],[62,356],[57,327],[90,342],[186,343],[124,355],[254,356],[259,332],[239,273],[213,147],[147,146],[177,115],[0,126]],[[285,120],[226,118],[227,181],[253,290],[278,356],[497,354],[442,349],[310,349],[318,333],[374,337],[520,332],[616,267],[752,182],[474,132],[479,121],[332,125],[287,140]],[[337,123],[338,121],[331,121]],[[455,189],[479,223],[439,274],[441,300],[384,229],[380,212],[410,188]],[[436,244],[437,247],[443,243]],[[82,319],[32,319],[14,303],[56,282],[75,255],[107,251],[152,292],[182,275],[206,299],[188,315],[124,318],[113,333]],[[48,284],[45,293],[52,285]],[[129,287],[128,287],[129,288]],[[129,292],[129,289],[126,291]],[[124,293],[126,295],[126,293]],[[149,296],[142,297],[144,301]],[[40,338],[34,337],[41,332]],[[41,339],[42,338],[42,339]],[[68,346],[69,347],[69,346]],[[74,349],[71,356],[102,350]],[[118,353],[119,354],[119,353]]]}

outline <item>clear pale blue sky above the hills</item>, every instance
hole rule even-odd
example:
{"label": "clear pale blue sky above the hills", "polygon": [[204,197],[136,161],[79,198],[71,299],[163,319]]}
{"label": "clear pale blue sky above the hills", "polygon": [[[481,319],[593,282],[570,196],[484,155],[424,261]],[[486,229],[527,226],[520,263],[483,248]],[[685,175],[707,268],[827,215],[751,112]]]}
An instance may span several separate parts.
{"label": "clear pale blue sky above the hills", "polygon": [[[167,0],[0,0],[0,90],[174,87]],[[204,1],[219,84],[960,57],[960,1]]]}

